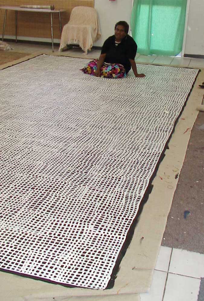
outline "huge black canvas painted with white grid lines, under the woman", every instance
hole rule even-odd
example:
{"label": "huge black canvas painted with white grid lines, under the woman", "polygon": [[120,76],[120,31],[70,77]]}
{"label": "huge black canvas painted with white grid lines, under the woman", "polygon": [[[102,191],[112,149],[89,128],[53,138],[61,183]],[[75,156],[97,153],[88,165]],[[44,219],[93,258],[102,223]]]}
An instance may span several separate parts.
{"label": "huge black canvas painted with white grid lines, under the woman", "polygon": [[0,71],[0,268],[105,289],[198,70],[101,79],[86,62]]}

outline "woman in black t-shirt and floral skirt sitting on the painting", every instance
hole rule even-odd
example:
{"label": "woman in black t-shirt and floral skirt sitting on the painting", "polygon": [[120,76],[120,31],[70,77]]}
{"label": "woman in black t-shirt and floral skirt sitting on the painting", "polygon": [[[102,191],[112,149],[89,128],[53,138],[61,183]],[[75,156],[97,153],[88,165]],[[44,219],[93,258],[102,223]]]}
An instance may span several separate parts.
{"label": "woman in black t-shirt and floral skirt sitting on the painting", "polygon": [[138,74],[134,61],[138,47],[128,30],[127,22],[116,23],[115,34],[105,40],[99,59],[89,62],[82,71],[100,77],[124,78],[132,67],[136,77],[144,77],[143,73]]}

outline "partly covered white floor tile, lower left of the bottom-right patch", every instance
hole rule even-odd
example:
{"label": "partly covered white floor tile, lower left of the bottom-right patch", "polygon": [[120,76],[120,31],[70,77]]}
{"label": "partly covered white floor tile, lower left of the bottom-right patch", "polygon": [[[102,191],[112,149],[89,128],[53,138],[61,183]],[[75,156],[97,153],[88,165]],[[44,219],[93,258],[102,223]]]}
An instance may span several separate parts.
{"label": "partly covered white floor tile, lower left of the bottom-right patch", "polygon": [[141,301],[162,301],[166,277],[166,272],[154,270],[150,291],[140,294]]}

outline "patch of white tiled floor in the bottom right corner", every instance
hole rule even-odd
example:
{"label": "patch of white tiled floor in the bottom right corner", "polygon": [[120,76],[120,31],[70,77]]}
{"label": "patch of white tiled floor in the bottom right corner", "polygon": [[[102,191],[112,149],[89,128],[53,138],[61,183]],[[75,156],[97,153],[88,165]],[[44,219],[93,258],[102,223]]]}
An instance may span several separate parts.
{"label": "patch of white tiled floor in the bottom right corner", "polygon": [[204,254],[160,247],[149,293],[141,301],[197,301],[204,277]]}

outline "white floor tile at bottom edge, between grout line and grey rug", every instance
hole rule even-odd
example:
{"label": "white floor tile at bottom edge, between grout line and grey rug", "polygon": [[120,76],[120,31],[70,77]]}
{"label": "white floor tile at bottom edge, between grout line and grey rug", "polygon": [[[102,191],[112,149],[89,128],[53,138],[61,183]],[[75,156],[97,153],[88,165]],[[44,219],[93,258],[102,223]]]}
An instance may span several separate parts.
{"label": "white floor tile at bottom edge, between grout line and grey rug", "polygon": [[200,279],[168,274],[164,301],[197,301]]}

